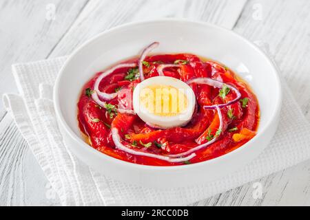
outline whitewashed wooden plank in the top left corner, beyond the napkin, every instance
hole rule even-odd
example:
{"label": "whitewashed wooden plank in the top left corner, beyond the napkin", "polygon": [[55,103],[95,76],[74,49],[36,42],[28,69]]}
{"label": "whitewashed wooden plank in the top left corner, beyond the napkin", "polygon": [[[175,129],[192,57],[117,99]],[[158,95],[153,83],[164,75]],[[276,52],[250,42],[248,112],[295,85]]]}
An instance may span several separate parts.
{"label": "whitewashed wooden plank in the top left corner, beyond the napkin", "polygon": [[[12,63],[35,61],[50,54],[87,0],[2,0],[0,3],[0,95],[16,92]],[[50,15],[55,7],[55,19]],[[0,118],[5,113],[0,102]]]}

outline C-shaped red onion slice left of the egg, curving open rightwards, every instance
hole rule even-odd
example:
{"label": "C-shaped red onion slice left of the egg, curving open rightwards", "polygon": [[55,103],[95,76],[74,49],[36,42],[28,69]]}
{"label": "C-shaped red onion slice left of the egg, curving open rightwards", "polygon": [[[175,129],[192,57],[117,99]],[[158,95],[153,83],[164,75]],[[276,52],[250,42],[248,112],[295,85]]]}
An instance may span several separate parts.
{"label": "C-shaped red onion slice left of the egg, curving open rightwards", "polygon": [[[101,83],[101,81],[109,76],[110,74],[112,74],[116,69],[121,69],[121,68],[134,68],[136,67],[136,63],[121,63],[119,65],[116,65],[115,67],[112,67],[111,69],[108,69],[107,71],[103,72],[95,81],[94,83],[94,94],[97,94],[98,98],[101,98],[104,101],[110,101],[114,98],[116,98],[117,93],[113,93],[113,94],[107,94],[105,92],[99,91],[99,85]],[[93,95],[94,95],[93,94]],[[96,96],[94,96],[94,98],[96,98]],[[96,102],[96,100],[95,100]],[[98,102],[97,102],[98,103]],[[98,103],[99,104],[99,103]]]}

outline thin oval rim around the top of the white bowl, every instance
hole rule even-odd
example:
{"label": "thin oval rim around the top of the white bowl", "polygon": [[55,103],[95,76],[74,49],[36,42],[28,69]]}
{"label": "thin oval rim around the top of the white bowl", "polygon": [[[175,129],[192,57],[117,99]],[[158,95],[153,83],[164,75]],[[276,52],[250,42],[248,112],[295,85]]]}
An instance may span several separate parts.
{"label": "thin oval rim around the top of the white bowl", "polygon": [[[278,100],[276,102],[276,109],[273,111],[273,113],[271,115],[271,120],[269,120],[269,122],[267,122],[265,127],[255,137],[253,137],[249,142],[247,142],[246,144],[243,144],[242,146],[240,146],[236,150],[231,151],[225,155],[221,155],[220,157],[216,157],[214,159],[209,159],[209,160],[206,160],[203,162],[198,162],[196,164],[187,164],[184,166],[150,166],[150,165],[142,165],[142,164],[134,164],[131,162],[125,162],[121,159],[116,159],[114,157],[110,157],[109,155],[105,155],[105,153],[101,153],[99,151],[96,151],[96,149],[92,148],[92,146],[90,146],[86,142],[84,142],[81,139],[81,137],[79,137],[78,135],[76,135],[76,133],[74,133],[74,131],[72,131],[70,126],[67,124],[65,118],[63,117],[63,114],[61,113],[61,107],[59,104],[59,96],[58,96],[59,83],[60,83],[61,78],[64,74],[64,70],[70,64],[70,61],[72,60],[72,58],[74,58],[74,56],[76,56],[76,54],[78,54],[81,50],[83,50],[84,47],[87,47],[87,45],[89,45],[93,41],[96,41],[96,39],[101,38],[101,36],[103,36],[105,34],[108,34],[110,32],[114,32],[116,30],[120,30],[122,28],[130,28],[131,26],[134,26],[134,25],[147,25],[150,23],[158,23],[158,22],[193,23],[193,24],[202,25],[202,26],[205,26],[208,28],[210,28],[210,27],[215,28],[215,29],[221,30],[223,32],[227,32],[228,34],[233,34],[237,38],[241,39],[242,41],[245,41],[245,43],[250,45],[254,50],[256,50],[256,52],[258,52],[261,56],[263,56],[266,59],[266,61],[269,63],[269,65],[271,65],[271,67],[273,68],[273,72],[276,75],[276,84],[278,86],[278,94],[279,94]],[[223,27],[220,27],[218,25],[214,25],[211,23],[203,22],[203,21],[192,21],[190,19],[155,19],[155,20],[147,20],[147,21],[130,22],[130,23],[125,23],[123,25],[118,25],[114,28],[106,30],[105,32],[97,34],[96,36],[85,41],[85,43],[83,43],[82,45],[77,47],[76,50],[74,50],[74,52],[72,52],[72,54],[70,54],[70,56],[68,56],[68,59],[65,61],[63,67],[61,67],[59,75],[56,78],[54,91],[53,91],[53,97],[54,97],[54,108],[56,111],[56,117],[58,117],[58,119],[61,122],[61,125],[63,126],[65,131],[67,133],[69,133],[71,138],[73,138],[74,140],[79,142],[79,144],[83,145],[83,147],[85,147],[87,151],[94,154],[94,156],[101,157],[102,159],[105,159],[105,160],[111,162],[112,164],[119,164],[119,165],[123,165],[123,166],[127,166],[127,167],[130,166],[131,168],[135,168],[137,170],[172,171],[172,170],[186,170],[187,168],[198,168],[200,166],[207,166],[208,164],[215,164],[215,163],[223,162],[223,161],[229,159],[229,157],[231,157],[232,155],[236,155],[236,154],[240,153],[240,151],[242,151],[243,148],[249,147],[249,145],[251,145],[253,142],[255,142],[258,138],[262,138],[262,135],[269,128],[269,126],[271,126],[271,124],[273,124],[275,122],[276,116],[280,113],[280,110],[282,107],[282,85],[281,85],[281,80],[280,80],[280,76],[278,73],[278,69],[275,66],[275,64],[273,63],[273,61],[271,61],[271,59],[267,56],[267,54],[265,54],[265,52],[263,52],[260,49],[260,47],[258,47],[254,43],[251,43],[251,41],[247,40],[244,36],[241,36],[240,34],[237,34],[236,32],[229,30],[227,28],[223,28]]]}

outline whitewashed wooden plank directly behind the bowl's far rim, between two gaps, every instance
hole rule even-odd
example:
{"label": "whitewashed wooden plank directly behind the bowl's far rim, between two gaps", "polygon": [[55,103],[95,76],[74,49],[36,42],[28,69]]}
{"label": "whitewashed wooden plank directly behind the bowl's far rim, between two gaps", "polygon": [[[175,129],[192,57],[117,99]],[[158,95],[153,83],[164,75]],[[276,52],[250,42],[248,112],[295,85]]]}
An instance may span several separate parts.
{"label": "whitewashed wooden plank directly behind the bowl's far rim, between two gaps", "polygon": [[[92,0],[68,31],[52,56],[70,54],[78,45],[116,25],[167,17],[207,21],[233,28],[246,1]],[[117,13],[115,10],[117,9]]]}

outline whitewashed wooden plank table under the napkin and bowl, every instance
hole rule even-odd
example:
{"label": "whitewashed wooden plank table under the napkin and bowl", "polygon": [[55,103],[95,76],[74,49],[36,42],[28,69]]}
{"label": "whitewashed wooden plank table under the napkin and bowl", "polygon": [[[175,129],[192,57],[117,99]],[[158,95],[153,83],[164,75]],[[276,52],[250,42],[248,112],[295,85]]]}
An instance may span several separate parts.
{"label": "whitewashed wooden plank table under the napkin and bowl", "polygon": [[[309,0],[1,0],[0,94],[17,92],[12,63],[70,54],[121,23],[163,17],[208,21],[264,44],[310,120]],[[310,161],[195,206],[310,205]],[[55,206],[47,179],[0,104],[0,205]]]}

